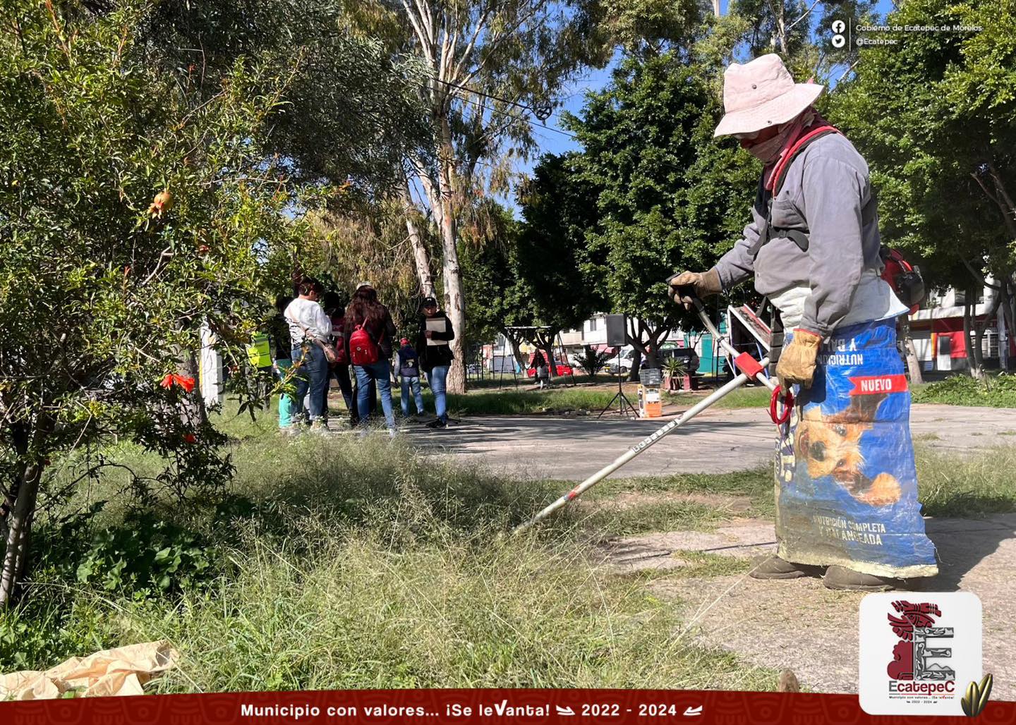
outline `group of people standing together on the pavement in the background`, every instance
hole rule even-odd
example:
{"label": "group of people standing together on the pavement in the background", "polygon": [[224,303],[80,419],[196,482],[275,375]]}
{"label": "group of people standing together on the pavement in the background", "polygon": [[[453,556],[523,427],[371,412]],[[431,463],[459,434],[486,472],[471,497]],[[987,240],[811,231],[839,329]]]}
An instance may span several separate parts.
{"label": "group of people standing together on the pavement in the background", "polygon": [[436,299],[428,296],[421,304],[414,346],[408,336],[396,337],[391,314],[378,301],[377,290],[370,282],[358,284],[347,305],[343,305],[338,292],[325,291],[324,285],[313,277],[302,276],[296,291],[296,298],[275,301],[278,315],[270,335],[279,378],[284,380],[291,368],[297,369],[293,374],[294,396],[282,395],[279,399],[280,429],[300,431],[309,425],[313,431],[326,431],[328,390],[334,377],[350,411],[351,427],[360,426],[366,432],[380,393],[385,423],[389,435],[394,436],[397,426],[391,396],[393,358],[401,379],[402,415],[409,415],[410,391],[417,415],[425,414],[420,386],[423,372],[437,412],[428,427],[447,425],[445,380],[452,360],[449,342],[454,339],[455,331]]}

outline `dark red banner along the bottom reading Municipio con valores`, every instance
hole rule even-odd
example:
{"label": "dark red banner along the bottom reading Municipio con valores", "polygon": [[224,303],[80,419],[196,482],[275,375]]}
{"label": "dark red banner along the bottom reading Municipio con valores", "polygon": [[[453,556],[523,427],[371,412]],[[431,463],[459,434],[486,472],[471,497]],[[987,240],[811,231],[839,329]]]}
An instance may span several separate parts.
{"label": "dark red banner along the bottom reading Municipio con valores", "polygon": [[[1016,722],[1016,703],[989,703],[976,721]],[[388,723],[934,723],[872,717],[855,695],[650,689],[375,689],[227,693],[0,703],[11,725],[341,725]]]}

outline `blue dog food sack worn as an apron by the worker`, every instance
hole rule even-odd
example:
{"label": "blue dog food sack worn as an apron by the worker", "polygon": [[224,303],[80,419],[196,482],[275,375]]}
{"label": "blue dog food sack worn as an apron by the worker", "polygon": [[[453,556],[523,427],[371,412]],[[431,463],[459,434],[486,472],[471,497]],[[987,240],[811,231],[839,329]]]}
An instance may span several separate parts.
{"label": "blue dog food sack worn as an apron by the worker", "polygon": [[938,574],[917,502],[909,417],[895,320],[835,330],[777,440],[782,558],[878,577]]}

